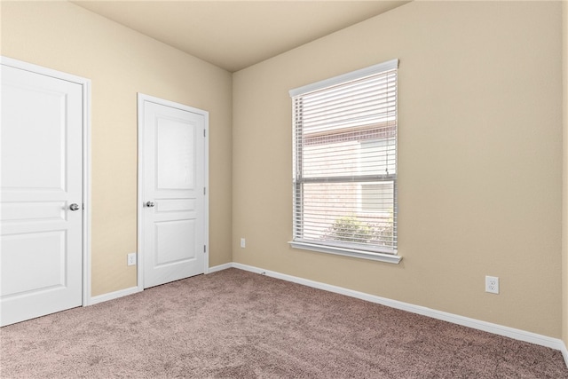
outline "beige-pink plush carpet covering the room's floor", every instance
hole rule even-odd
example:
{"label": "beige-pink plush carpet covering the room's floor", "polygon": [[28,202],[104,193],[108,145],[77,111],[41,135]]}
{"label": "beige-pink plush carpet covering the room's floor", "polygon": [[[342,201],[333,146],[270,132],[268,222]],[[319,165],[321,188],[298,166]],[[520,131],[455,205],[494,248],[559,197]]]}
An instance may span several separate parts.
{"label": "beige-pink plush carpet covering the room's floor", "polygon": [[2,378],[568,378],[560,351],[229,269],[0,328]]}

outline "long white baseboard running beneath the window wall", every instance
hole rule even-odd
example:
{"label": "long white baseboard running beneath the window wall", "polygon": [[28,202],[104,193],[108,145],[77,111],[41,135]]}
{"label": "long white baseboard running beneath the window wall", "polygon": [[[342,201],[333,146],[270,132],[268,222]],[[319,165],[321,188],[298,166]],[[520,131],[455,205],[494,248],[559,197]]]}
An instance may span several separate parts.
{"label": "long white baseboard running beneath the window wall", "polygon": [[538,335],[533,332],[527,332],[525,330],[516,329],[516,328],[509,328],[499,324],[493,324],[491,322],[486,322],[482,320],[470,319],[469,317],[460,316],[453,313],[437,311],[434,309],[426,308],[421,305],[414,305],[399,302],[397,300],[391,300],[386,297],[369,295],[364,292],[354,291],[352,289],[332,286],[326,283],[321,283],[319,281],[314,280],[307,280],[303,278],[299,278],[296,276],[288,275],[285,273],[280,272],[272,272],[270,270],[264,270],[258,267],[250,266],[250,265],[242,265],[239,263],[233,263],[230,265],[231,267],[238,268],[241,270],[245,270],[248,272],[256,272],[266,276],[270,276],[272,278],[287,280],[294,283],[302,284],[304,286],[312,287],[312,288],[319,288],[329,292],[335,292],[337,294],[356,297],[361,300],[366,300],[371,303],[382,304],[389,306],[391,308],[396,308],[401,311],[406,312],[413,312],[417,314],[421,314],[423,316],[431,317],[432,319],[444,320],[448,322],[452,322],[457,325],[461,325],[464,327],[474,328],[478,330],[483,330],[485,332],[493,333],[494,335],[499,336],[506,336],[509,338],[516,339],[518,341],[524,341],[528,343],[538,344],[540,346],[546,346],[551,349],[562,351],[564,356],[564,363],[568,367],[568,350],[566,349],[566,345],[564,341],[558,338],[552,338],[549,336],[542,336]]}

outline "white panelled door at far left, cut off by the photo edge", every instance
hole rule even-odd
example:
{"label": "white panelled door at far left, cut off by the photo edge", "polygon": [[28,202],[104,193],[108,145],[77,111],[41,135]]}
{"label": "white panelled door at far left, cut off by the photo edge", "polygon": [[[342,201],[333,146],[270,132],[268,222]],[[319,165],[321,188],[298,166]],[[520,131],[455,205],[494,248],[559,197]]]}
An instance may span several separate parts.
{"label": "white panelled door at far left, cut off by the photo edge", "polygon": [[1,74],[4,326],[83,303],[83,87],[4,63]]}

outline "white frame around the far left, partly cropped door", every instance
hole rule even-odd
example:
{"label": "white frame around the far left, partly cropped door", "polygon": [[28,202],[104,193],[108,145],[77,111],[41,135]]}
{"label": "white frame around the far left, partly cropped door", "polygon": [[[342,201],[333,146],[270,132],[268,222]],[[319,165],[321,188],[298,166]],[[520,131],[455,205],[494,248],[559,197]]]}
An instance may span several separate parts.
{"label": "white frame around the far left, partly cropped door", "polygon": [[83,102],[83,217],[82,217],[82,301],[83,307],[91,305],[91,79],[67,74],[51,68],[38,66],[18,59],[0,56],[4,66],[19,68],[39,75],[51,76],[81,85]]}

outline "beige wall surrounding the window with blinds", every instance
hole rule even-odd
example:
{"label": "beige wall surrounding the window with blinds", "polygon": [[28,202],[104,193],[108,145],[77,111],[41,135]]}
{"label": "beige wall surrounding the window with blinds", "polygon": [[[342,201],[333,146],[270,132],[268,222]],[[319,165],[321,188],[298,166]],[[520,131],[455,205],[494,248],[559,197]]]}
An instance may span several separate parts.
{"label": "beige wall surrounding the window with blinds", "polygon": [[[233,261],[560,337],[561,21],[560,2],[414,2],[235,73]],[[288,90],[393,58],[401,264],[289,248]]]}

